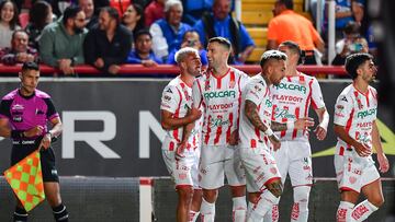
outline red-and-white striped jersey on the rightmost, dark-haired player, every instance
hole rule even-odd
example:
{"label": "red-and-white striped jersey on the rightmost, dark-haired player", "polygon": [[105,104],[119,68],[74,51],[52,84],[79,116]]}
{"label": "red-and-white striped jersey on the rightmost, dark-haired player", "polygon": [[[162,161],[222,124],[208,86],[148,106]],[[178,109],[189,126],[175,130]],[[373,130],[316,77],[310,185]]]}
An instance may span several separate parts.
{"label": "red-and-white striped jersey on the rightmost, dark-haired player", "polygon": [[[334,124],[346,127],[346,131],[352,139],[372,148],[372,129],[376,114],[375,89],[369,86],[366,93],[361,93],[350,84],[336,101]],[[352,149],[352,147],[338,138],[336,153],[342,155],[345,149]]]}

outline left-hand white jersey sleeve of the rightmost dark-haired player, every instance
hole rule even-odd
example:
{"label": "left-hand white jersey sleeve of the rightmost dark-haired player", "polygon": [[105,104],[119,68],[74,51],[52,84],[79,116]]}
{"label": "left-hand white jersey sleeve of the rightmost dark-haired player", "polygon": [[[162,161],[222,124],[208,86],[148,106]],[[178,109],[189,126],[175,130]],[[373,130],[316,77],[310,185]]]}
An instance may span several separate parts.
{"label": "left-hand white jersey sleeve of the rightmost dark-haired player", "polygon": [[340,94],[336,101],[334,124],[339,126],[346,126],[350,118],[353,105],[350,96]]}

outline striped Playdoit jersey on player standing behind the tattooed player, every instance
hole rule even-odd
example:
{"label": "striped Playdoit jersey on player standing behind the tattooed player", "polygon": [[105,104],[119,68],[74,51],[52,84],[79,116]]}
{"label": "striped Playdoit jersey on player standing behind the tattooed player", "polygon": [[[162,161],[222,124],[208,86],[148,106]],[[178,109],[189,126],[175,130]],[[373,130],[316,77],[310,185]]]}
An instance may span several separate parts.
{"label": "striped Playdoit jersey on player standing behind the tattooed player", "polygon": [[[323,93],[317,79],[298,72],[295,77],[285,77],[279,85],[271,86],[273,97],[272,120],[278,122],[295,121],[308,117],[308,109],[325,107]],[[308,141],[306,130],[284,130],[275,132],[280,140]]]}

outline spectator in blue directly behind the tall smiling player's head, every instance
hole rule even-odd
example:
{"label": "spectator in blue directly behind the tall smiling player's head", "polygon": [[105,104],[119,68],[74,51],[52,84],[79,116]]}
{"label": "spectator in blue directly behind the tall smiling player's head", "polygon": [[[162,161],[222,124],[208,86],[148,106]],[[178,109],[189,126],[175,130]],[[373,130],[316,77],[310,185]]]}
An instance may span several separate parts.
{"label": "spectator in blue directly behind the tall smiling player's head", "polygon": [[230,14],[230,0],[215,0],[213,13],[206,13],[198,21],[194,28],[201,42],[206,46],[210,38],[222,36],[230,40],[233,47],[233,61],[244,63],[255,48],[255,44],[246,27]]}

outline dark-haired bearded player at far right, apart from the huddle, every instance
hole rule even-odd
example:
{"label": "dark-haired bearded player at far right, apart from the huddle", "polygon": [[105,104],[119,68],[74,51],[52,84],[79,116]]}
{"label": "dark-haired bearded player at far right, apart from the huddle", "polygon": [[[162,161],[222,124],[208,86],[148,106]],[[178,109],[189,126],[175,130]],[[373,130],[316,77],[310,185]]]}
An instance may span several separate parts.
{"label": "dark-haired bearded player at far right, apart from the huddle", "polygon": [[[380,175],[372,160],[377,153],[380,172],[390,168],[376,125],[377,93],[369,85],[376,68],[369,54],[353,54],[346,59],[346,70],[353,82],[337,98],[334,130],[338,137],[335,171],[341,201],[337,221],[364,221],[384,202]],[[354,206],[360,192],[368,198]]]}

